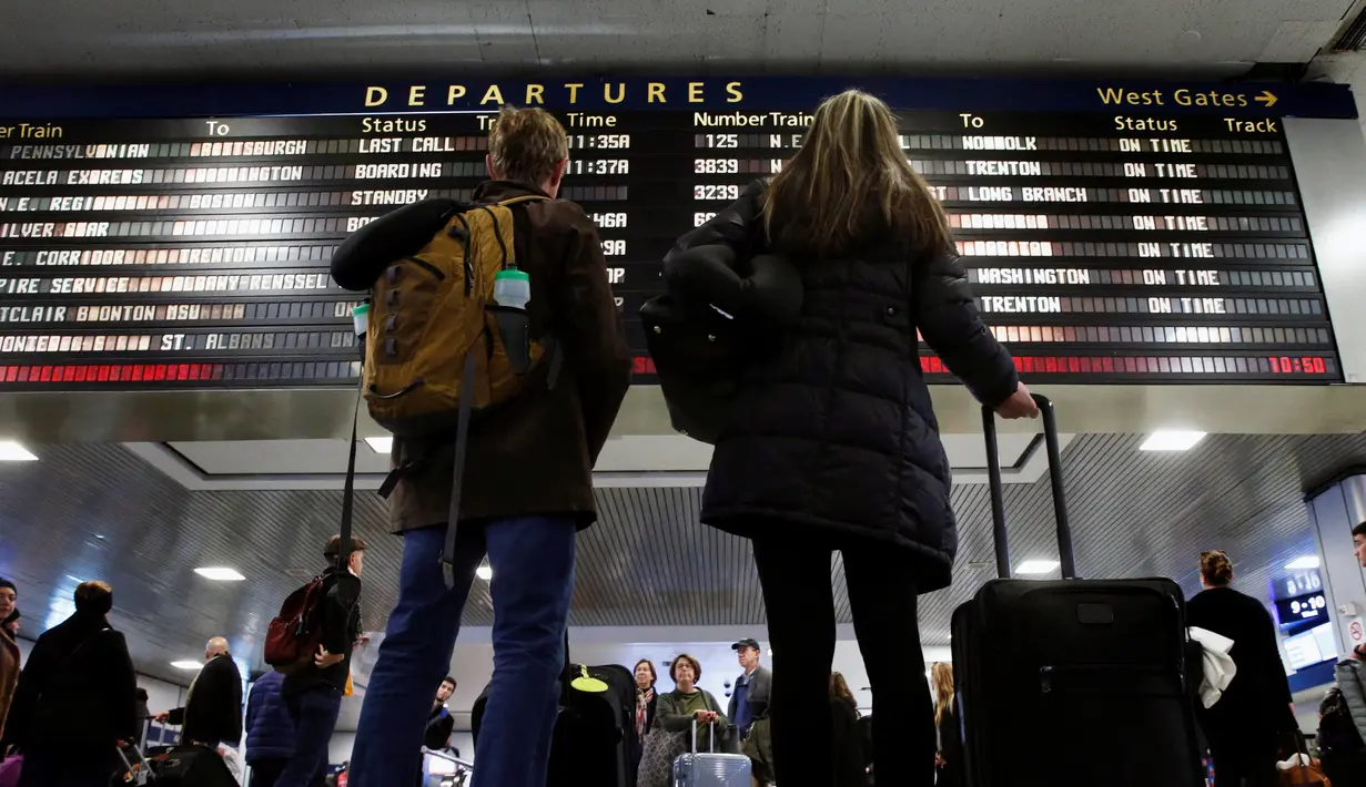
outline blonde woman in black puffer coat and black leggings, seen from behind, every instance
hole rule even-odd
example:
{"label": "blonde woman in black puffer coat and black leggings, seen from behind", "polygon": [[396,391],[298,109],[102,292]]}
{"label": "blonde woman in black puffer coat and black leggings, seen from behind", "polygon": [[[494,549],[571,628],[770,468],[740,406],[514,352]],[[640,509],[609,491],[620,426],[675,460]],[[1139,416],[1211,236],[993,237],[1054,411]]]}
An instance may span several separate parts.
{"label": "blonde woman in black puffer coat and black leggings, seen from behind", "polygon": [[958,535],[917,331],[1003,416],[1037,408],[982,325],[944,210],[877,98],[850,90],[821,104],[781,175],[684,235],[668,262],[714,246],[739,259],[779,254],[802,277],[781,351],[740,381],[702,505],[703,522],[753,540],[775,653],[776,782],[835,783],[835,600],[813,577],[840,550],[878,783],[928,787],[930,692],[906,664],[923,662],[917,596],[949,584]]}

